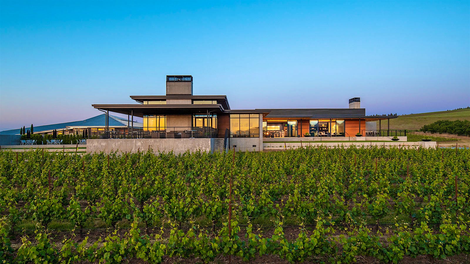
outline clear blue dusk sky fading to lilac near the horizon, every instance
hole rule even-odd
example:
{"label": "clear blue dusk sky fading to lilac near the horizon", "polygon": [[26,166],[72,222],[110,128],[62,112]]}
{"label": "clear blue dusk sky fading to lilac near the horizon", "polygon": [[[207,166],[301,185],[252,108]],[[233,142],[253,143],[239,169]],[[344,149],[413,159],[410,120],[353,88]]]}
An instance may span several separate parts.
{"label": "clear blue dusk sky fading to lilac near the horizon", "polygon": [[368,115],[470,105],[470,1],[0,1],[0,131],[195,94]]}

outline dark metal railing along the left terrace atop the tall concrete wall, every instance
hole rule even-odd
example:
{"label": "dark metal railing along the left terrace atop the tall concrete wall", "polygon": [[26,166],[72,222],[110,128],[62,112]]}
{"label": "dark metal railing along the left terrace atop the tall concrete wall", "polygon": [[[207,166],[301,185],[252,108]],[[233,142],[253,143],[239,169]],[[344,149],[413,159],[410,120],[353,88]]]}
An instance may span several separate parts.
{"label": "dark metal railing along the left terrace atop the tall concrete wall", "polygon": [[125,131],[92,132],[92,138],[98,139],[207,139],[216,138],[217,129],[212,127],[166,127],[162,131],[143,131],[129,129]]}

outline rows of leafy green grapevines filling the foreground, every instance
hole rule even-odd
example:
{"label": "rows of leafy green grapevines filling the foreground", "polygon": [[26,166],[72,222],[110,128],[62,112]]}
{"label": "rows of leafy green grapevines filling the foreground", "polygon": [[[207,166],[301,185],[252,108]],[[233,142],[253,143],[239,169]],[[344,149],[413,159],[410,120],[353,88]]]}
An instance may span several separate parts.
{"label": "rows of leafy green grapevines filling the foreground", "polygon": [[0,153],[0,263],[468,259],[470,150]]}

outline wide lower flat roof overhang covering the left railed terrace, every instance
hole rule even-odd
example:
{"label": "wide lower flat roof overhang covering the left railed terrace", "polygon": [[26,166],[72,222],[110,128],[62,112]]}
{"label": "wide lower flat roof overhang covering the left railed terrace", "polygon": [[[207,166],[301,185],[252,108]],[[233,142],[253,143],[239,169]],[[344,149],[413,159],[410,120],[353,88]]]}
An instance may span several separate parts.
{"label": "wide lower flat roof overhang covering the left railed terrace", "polygon": [[221,104],[93,104],[96,109],[143,117],[144,115],[205,114],[224,112]]}

